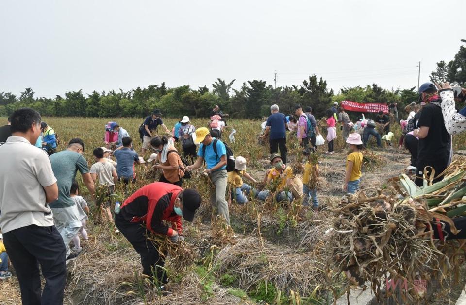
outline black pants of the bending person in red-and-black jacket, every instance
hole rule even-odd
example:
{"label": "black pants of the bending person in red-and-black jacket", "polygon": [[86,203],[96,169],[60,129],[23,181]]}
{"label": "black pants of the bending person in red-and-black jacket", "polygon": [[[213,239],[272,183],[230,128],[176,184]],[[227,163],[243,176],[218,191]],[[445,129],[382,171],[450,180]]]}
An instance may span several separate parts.
{"label": "black pants of the bending person in red-and-black jacket", "polygon": [[150,277],[155,276],[159,284],[168,283],[166,271],[163,269],[165,260],[159,254],[159,245],[147,239],[150,233],[142,223],[128,222],[121,214],[116,214],[115,225],[141,255],[142,273]]}

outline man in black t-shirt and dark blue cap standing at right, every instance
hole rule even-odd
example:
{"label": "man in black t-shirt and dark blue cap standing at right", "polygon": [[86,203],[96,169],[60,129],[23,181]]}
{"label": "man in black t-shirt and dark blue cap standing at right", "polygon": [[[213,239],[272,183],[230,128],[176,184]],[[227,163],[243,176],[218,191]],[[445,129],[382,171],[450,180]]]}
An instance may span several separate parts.
{"label": "man in black t-shirt and dark blue cap standing at right", "polygon": [[[439,176],[448,166],[450,155],[450,136],[443,122],[442,99],[437,93],[437,88],[432,83],[425,83],[419,87],[420,99],[426,103],[422,108],[417,129],[413,136],[419,137],[417,148],[417,174],[416,185],[423,185],[423,170],[429,166],[435,170],[435,179],[438,182],[443,179]],[[431,169],[426,169],[427,176]]]}

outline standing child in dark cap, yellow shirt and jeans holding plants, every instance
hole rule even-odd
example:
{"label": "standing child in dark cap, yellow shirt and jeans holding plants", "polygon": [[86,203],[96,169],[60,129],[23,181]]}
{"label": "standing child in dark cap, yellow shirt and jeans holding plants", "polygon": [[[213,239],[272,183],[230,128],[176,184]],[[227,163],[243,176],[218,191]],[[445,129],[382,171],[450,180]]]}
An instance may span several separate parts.
{"label": "standing child in dark cap, yellow shirt and jeans holding plants", "polygon": [[318,163],[312,162],[314,156],[309,148],[306,149],[305,154],[308,159],[304,165],[304,174],[302,176],[302,194],[304,196],[302,205],[309,206],[309,198],[312,198],[312,209],[314,212],[317,212],[319,210],[319,201],[317,200],[315,179],[319,176],[319,165]]}

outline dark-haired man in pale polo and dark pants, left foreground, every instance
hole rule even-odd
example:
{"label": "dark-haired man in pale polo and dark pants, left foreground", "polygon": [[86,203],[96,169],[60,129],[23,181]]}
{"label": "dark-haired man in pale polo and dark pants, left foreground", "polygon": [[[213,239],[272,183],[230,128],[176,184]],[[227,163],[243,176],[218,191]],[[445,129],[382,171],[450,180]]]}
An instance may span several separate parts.
{"label": "dark-haired man in pale polo and dark pants, left foreground", "polygon": [[[11,115],[12,136],[0,147],[0,225],[15,267],[23,304],[63,304],[65,244],[48,203],[58,198],[49,156],[34,146],[40,114],[22,108]],[[46,279],[41,291],[39,264]]]}

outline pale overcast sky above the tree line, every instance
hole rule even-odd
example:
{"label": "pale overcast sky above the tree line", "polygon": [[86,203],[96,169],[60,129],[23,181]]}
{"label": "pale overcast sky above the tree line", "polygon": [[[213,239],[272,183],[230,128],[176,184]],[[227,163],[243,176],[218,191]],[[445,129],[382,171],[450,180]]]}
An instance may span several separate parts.
{"label": "pale overcast sky above the tree line", "polygon": [[[216,78],[417,86],[466,39],[466,1],[1,0],[0,92],[54,97]],[[454,17],[456,16],[456,17]]]}

